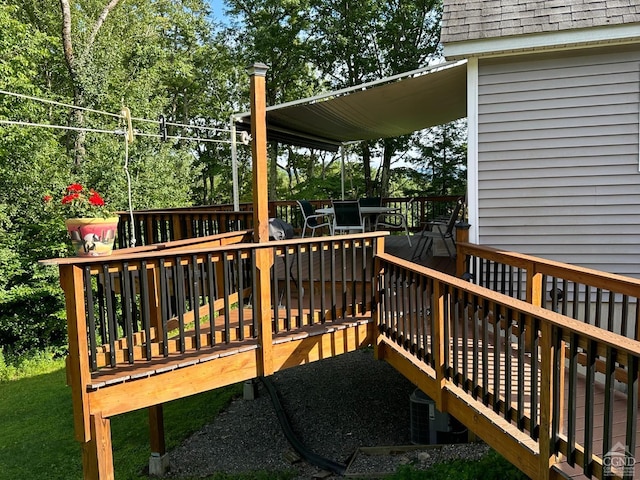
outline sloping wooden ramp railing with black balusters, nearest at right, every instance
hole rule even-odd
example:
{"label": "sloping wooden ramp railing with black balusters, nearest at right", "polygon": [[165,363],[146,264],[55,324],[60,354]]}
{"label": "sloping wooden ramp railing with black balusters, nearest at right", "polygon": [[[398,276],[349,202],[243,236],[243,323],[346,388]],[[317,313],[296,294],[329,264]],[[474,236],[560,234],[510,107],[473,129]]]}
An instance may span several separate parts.
{"label": "sloping wooden ramp railing with black balusters, nearest at right", "polygon": [[[497,436],[494,447],[532,478],[548,476],[560,454],[598,478],[634,464],[640,343],[386,254],[378,262],[380,332],[424,362],[432,382],[421,386],[438,408],[452,408],[452,393],[500,416],[517,431],[500,427],[511,439]],[[555,271],[571,278],[560,264]],[[614,403],[626,414],[613,418]]]}

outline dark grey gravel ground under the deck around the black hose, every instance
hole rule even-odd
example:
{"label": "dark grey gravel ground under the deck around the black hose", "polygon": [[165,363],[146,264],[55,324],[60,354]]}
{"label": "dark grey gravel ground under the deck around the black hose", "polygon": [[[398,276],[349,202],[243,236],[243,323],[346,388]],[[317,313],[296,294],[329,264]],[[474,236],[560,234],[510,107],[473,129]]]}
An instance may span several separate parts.
{"label": "dark grey gravel ground under the deck around the black hose", "polygon": [[[453,458],[478,459],[483,443],[411,445],[410,395],[415,386],[370,349],[278,372],[270,377],[291,429],[310,451],[347,466],[345,476],[392,473],[404,463],[427,468]],[[341,478],[303,461],[287,441],[267,389],[234,400],[213,423],[170,452],[167,477],[216,472],[297,472],[297,479]],[[372,452],[371,447],[381,449]],[[375,453],[375,454],[373,454]]]}

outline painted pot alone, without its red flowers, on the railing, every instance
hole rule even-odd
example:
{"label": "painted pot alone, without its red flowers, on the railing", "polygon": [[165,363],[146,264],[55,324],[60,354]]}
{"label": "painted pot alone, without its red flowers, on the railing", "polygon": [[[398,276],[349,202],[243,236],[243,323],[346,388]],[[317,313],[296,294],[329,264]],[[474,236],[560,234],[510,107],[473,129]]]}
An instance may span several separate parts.
{"label": "painted pot alone, without its red flowers, on the railing", "polygon": [[118,231],[118,217],[69,218],[65,220],[78,257],[111,255]]}

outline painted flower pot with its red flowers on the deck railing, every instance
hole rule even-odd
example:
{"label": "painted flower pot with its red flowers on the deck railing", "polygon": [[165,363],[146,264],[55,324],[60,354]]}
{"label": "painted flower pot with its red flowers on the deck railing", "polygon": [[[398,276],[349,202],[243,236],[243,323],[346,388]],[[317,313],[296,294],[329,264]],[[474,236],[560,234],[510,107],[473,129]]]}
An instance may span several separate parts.
{"label": "painted flower pot with its red flowers on the deck railing", "polygon": [[66,188],[58,205],[52,200],[51,195],[45,195],[45,204],[57,208],[68,217],[65,224],[77,256],[111,255],[119,217],[107,209],[98,192],[73,183]]}

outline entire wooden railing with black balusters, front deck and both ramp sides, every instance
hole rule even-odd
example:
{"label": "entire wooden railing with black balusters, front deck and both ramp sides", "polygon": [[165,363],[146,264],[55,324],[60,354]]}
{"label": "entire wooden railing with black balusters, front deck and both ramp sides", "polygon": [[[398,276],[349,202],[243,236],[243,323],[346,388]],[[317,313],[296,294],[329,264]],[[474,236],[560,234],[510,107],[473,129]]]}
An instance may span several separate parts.
{"label": "entire wooden railing with black balusters, front deck and both ramp sides", "polygon": [[[56,260],[77,438],[106,438],[89,417],[179,398],[158,390],[162,373],[194,366],[193,377],[169,373],[172,385],[217,388],[355,349],[358,335],[372,340],[368,327],[356,332],[358,322],[374,318],[378,352],[383,344],[401,352],[394,366],[442,411],[490,431],[489,443],[530,477],[547,478],[561,456],[598,478],[633,462],[640,343],[621,334],[632,325],[637,334],[638,281],[463,240],[456,278],[384,254],[386,235],[254,244],[238,231]],[[544,298],[556,287],[566,307],[558,293]],[[619,298],[620,307],[599,297]],[[600,324],[586,313],[594,309]],[[325,338],[345,320],[356,328],[344,345]],[[209,363],[236,355],[221,363],[229,371]],[[135,398],[120,404],[130,392]],[[101,451],[96,442],[85,451]]]}

